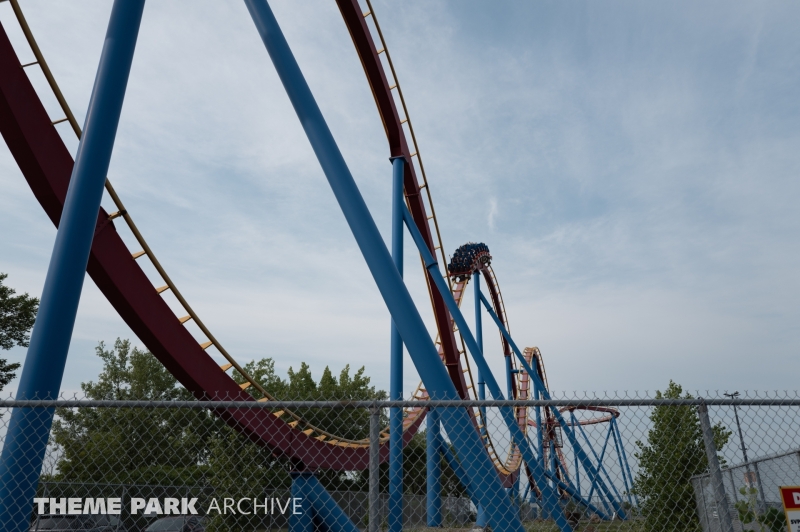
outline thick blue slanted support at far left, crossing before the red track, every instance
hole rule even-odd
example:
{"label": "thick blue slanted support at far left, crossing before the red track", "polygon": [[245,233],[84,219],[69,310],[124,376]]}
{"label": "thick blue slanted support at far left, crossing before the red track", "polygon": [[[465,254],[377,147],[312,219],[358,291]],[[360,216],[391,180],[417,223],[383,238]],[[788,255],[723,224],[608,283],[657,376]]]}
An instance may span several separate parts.
{"label": "thick blue slanted support at far left, crossing before the red track", "polygon": [[[144,0],[115,0],[18,399],[58,396],[122,112]],[[53,410],[14,409],[0,457],[0,530],[28,529]]]}

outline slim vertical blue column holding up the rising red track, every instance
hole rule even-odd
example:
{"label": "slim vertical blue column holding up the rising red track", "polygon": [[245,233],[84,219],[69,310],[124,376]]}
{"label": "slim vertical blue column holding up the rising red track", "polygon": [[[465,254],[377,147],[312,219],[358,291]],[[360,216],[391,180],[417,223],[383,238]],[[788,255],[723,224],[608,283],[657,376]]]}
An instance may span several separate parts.
{"label": "slim vertical blue column holding up the rising red track", "polygon": [[[392,259],[403,277],[403,165],[392,158]],[[403,399],[403,339],[392,320],[389,397]],[[403,409],[389,410],[389,532],[403,530]]]}

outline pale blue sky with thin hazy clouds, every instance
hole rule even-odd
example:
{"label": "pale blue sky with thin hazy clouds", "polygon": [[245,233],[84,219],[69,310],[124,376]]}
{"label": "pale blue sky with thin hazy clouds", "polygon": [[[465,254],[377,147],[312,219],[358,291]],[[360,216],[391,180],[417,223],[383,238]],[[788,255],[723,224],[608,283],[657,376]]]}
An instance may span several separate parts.
{"label": "pale blue sky with thin hazy clouds", "polygon": [[[22,5],[83,123],[111,3]],[[338,9],[271,5],[388,242],[388,145]],[[551,389],[797,389],[800,5],[374,7],[445,249],[489,246],[511,332],[542,350]],[[32,61],[8,3],[0,22]],[[317,378],[365,366],[388,389],[388,311],[243,3],[148,3],[109,178],[239,361],[272,357],[284,375],[305,361]],[[8,285],[41,293],[55,235],[0,145]],[[406,281],[432,330],[415,255]],[[63,390],[96,379],[95,346],[118,337],[141,345],[87,278]],[[406,393],[418,380],[406,356]]]}

